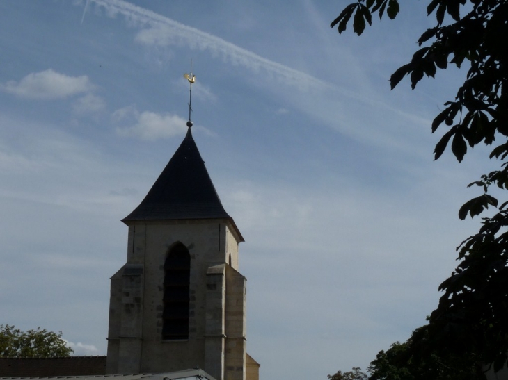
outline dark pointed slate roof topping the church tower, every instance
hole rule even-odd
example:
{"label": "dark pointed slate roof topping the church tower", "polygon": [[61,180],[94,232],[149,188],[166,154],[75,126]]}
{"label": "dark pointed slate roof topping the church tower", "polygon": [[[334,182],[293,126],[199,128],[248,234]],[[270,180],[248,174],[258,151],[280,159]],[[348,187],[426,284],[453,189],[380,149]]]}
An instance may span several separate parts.
{"label": "dark pointed slate roof topping the church tower", "polygon": [[122,222],[224,218],[235,226],[221,204],[189,128],[145,199]]}

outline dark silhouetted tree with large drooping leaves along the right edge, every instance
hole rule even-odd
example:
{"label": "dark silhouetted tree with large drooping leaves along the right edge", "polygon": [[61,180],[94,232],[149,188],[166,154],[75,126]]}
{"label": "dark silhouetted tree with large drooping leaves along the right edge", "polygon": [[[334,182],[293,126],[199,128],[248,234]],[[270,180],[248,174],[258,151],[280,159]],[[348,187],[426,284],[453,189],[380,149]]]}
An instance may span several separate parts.
{"label": "dark silhouetted tree with large drooping leaves along the right edge", "polygon": [[[399,12],[397,0],[358,0],[331,27],[342,33],[352,19],[354,33],[361,35],[373,15],[394,19]],[[443,130],[434,159],[450,147],[461,162],[468,147],[485,144],[492,147],[489,158],[500,166],[470,183],[481,193],[463,204],[460,219],[480,215],[489,206],[495,212],[483,217],[478,233],[457,247],[459,265],[440,284],[438,307],[428,326],[413,333],[408,347],[413,360],[452,353],[474,359],[478,366],[493,363],[499,370],[508,353],[508,201],[493,197],[489,188],[508,190],[508,1],[429,0],[431,15],[435,26],[423,31],[418,50],[395,70],[390,86],[409,76],[414,89],[424,76],[434,78],[438,69],[464,67],[457,95],[431,124],[432,133]]]}

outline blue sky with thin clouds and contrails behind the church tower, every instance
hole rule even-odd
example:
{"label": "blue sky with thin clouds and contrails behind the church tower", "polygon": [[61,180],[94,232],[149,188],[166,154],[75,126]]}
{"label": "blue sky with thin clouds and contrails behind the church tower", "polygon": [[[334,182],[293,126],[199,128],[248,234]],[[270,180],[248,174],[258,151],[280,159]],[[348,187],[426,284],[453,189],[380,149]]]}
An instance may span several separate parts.
{"label": "blue sky with thin clouds and contrails behind the church tower", "polygon": [[264,380],[366,367],[436,306],[482,149],[434,162],[465,72],[388,79],[421,1],[361,38],[349,1],[0,0],[0,324],[105,354],[120,220],[186,131],[246,242],[248,352]]}

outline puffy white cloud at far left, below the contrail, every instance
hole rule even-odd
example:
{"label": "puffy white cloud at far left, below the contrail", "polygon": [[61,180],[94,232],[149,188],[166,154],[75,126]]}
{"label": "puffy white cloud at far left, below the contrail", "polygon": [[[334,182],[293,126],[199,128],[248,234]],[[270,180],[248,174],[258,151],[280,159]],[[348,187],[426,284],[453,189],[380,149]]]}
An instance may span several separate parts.
{"label": "puffy white cloud at far left, below the contrail", "polygon": [[8,81],[0,88],[26,99],[63,99],[75,94],[82,94],[93,89],[88,76],[68,76],[47,69],[43,72],[31,73],[21,81]]}

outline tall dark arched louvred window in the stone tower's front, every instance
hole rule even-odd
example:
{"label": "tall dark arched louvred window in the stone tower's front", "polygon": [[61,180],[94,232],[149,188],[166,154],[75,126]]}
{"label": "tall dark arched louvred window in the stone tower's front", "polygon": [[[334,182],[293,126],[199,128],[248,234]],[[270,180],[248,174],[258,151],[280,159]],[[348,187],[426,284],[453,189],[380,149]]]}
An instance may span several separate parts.
{"label": "tall dark arched louvred window in the stone tower's front", "polygon": [[164,262],[164,312],[162,338],[189,338],[189,281],[191,256],[182,243],[173,247]]}

